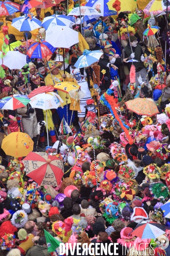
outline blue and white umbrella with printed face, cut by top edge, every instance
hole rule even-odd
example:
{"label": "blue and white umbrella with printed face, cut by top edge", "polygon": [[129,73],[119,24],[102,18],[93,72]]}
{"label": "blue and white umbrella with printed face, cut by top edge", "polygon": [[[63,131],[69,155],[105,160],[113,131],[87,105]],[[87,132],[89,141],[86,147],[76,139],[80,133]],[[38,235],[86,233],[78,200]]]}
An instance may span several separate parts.
{"label": "blue and white umbrella with printed face, cut by top edge", "polygon": [[94,8],[97,12],[99,12],[100,16],[109,16],[109,15],[117,15],[116,11],[111,11],[108,9],[107,3],[108,0],[89,0],[85,6],[89,6]]}

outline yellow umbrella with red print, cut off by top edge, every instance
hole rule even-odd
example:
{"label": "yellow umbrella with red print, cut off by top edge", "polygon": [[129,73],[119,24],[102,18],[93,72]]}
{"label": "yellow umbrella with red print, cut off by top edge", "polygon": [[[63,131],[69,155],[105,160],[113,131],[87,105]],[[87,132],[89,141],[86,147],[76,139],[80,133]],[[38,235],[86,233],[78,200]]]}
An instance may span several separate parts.
{"label": "yellow umbrella with red print, cut off by top edge", "polygon": [[[119,0],[120,6],[117,5],[115,0],[108,1],[107,6],[109,10],[118,11],[118,12],[131,12],[137,8],[136,1],[134,0]],[[113,7],[114,6],[114,7]]]}

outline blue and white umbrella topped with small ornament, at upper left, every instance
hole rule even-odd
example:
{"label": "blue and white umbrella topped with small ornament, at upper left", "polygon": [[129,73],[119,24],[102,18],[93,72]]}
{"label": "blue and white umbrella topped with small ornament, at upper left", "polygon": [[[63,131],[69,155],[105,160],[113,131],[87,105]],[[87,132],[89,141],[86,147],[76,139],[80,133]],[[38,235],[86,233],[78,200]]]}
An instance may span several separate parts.
{"label": "blue and white umbrella topped with small ornament, at upper left", "polygon": [[24,15],[14,18],[11,25],[19,31],[32,31],[41,27],[41,21],[31,15]]}

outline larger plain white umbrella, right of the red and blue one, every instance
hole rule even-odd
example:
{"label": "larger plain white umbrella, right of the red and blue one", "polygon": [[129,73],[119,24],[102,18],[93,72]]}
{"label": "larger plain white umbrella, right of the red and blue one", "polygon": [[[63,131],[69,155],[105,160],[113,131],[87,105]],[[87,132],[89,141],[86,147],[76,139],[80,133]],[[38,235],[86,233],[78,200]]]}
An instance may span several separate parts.
{"label": "larger plain white umbrella, right of the red and blue one", "polygon": [[55,26],[55,29],[47,29],[45,41],[53,47],[69,48],[79,43],[79,33],[68,26]]}

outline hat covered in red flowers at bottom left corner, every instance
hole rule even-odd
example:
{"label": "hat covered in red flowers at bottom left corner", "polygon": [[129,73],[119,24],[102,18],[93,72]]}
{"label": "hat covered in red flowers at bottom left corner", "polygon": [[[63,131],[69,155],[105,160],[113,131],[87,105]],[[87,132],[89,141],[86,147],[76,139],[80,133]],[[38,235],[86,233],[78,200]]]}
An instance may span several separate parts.
{"label": "hat covered in red flowers at bottom left corner", "polygon": [[12,234],[6,234],[0,238],[0,247],[1,250],[9,251],[14,248],[15,245],[15,236]]}

